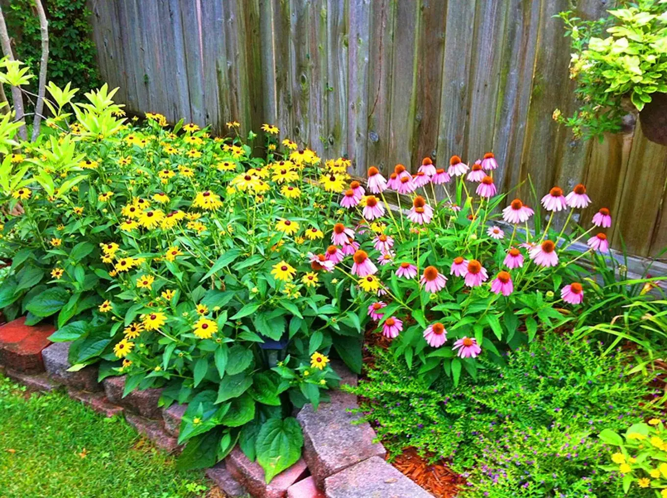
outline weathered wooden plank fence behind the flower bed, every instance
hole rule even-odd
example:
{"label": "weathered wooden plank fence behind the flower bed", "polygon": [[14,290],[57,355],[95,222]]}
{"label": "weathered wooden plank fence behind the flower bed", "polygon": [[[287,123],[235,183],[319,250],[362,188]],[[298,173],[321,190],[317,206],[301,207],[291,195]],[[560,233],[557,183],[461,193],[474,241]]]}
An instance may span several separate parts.
{"label": "weathered wooden plank fence behind the flower bed", "polygon": [[[580,17],[605,0],[579,0]],[[577,107],[570,0],[90,0],[101,73],[131,111],[215,133],[273,123],[363,174],[494,151],[507,191],[584,182],[612,210],[612,241],[667,245],[667,147],[640,126],[581,142],[552,120]],[[527,183],[522,194],[527,195]],[[584,213],[589,219],[594,213]]]}

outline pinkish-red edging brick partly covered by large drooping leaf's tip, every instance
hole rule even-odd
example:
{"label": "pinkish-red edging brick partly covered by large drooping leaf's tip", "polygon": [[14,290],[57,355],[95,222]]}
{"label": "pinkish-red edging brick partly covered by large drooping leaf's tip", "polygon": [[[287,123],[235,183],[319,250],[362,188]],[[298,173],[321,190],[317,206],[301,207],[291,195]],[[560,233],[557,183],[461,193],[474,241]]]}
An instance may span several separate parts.
{"label": "pinkish-red edging brick partly covered by large drooping leaf's tip", "polygon": [[264,481],[264,469],[259,463],[251,462],[239,447],[235,447],[225,459],[229,473],[255,498],[285,498],[287,489],[307,475],[303,459],[273,477],[270,483]]}

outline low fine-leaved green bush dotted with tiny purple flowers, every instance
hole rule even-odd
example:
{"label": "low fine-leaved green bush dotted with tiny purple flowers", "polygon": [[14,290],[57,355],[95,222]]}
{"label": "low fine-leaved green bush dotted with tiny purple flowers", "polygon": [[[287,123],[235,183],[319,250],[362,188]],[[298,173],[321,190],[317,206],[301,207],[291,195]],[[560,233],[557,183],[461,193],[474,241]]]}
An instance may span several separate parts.
{"label": "low fine-leaved green bush dotted with tiny purple flowers", "polygon": [[413,446],[450,459],[468,477],[464,496],[622,496],[618,475],[596,470],[608,453],[596,434],[656,413],[642,405],[657,393],[628,375],[629,353],[602,351],[548,332],[502,365],[483,361],[476,381],[441,377],[429,387],[416,367],[379,350],[352,391],[390,453]]}

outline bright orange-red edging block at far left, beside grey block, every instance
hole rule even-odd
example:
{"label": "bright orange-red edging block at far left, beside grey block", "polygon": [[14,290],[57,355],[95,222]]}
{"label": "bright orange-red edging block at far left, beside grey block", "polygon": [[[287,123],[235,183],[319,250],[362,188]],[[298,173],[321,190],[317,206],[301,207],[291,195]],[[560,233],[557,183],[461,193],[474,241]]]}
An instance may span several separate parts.
{"label": "bright orange-red edging block at far left, beside grey block", "polygon": [[52,325],[25,325],[19,318],[0,327],[0,363],[24,373],[44,371],[42,350],[51,344],[47,339],[55,329]]}

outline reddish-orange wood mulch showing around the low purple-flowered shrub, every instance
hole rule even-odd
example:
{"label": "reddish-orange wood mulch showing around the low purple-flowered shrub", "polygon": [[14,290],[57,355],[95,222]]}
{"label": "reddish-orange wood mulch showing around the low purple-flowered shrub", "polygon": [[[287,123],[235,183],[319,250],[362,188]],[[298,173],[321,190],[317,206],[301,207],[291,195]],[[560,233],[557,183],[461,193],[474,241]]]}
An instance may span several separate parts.
{"label": "reddish-orange wood mulch showing around the low purple-flowered shrub", "polygon": [[[362,351],[366,369],[372,368],[375,364],[372,349],[374,347],[386,349],[390,343],[391,340],[377,333],[375,327],[369,327],[366,330]],[[437,461],[430,465],[428,458],[420,457],[416,449],[412,447],[404,449],[403,453],[398,455],[391,463],[404,475],[430,491],[436,498],[455,497],[459,485],[466,482],[466,479],[450,470],[444,461]]]}

